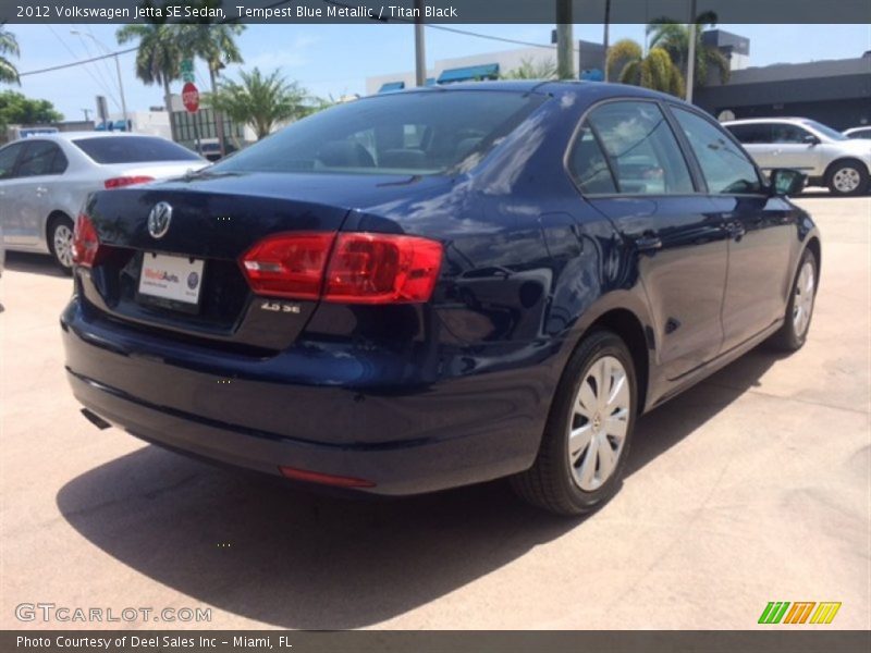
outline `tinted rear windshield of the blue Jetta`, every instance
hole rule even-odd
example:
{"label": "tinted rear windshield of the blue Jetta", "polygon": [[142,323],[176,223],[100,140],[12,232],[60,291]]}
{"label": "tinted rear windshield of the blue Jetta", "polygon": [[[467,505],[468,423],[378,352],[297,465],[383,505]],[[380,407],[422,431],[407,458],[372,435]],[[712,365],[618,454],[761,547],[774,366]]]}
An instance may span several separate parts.
{"label": "tinted rear windshield of the blue Jetta", "polygon": [[300,120],[210,170],[438,174],[479,161],[542,101],[499,90],[367,98]]}

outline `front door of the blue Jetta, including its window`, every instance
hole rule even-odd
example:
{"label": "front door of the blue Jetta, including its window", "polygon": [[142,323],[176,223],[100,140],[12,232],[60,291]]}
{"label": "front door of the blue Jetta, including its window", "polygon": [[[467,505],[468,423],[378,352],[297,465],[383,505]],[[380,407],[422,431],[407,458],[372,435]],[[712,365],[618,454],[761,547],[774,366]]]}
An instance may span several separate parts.
{"label": "front door of the blue Jetta, including its window", "polygon": [[771,197],[753,163],[712,119],[676,104],[671,112],[728,235],[727,352],[783,317],[796,215],[788,202]]}

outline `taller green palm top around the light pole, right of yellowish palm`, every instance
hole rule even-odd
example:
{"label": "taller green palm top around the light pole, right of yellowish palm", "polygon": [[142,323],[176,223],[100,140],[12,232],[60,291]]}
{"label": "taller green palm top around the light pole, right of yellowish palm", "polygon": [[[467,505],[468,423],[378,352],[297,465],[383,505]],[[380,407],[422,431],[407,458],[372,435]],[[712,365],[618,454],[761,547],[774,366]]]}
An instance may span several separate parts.
{"label": "taller green palm top around the light pole, right of yellowish palm", "polygon": [[[708,81],[708,67],[713,66],[720,74],[720,81],[728,82],[732,72],[728,59],[717,48],[702,41],[702,30],[716,25],[716,14],[703,12],[696,19],[696,73],[697,86]],[[689,33],[687,25],[675,23],[670,19],[659,19],[647,26],[651,48],[662,48],[672,58],[677,70],[686,75],[689,57]]]}

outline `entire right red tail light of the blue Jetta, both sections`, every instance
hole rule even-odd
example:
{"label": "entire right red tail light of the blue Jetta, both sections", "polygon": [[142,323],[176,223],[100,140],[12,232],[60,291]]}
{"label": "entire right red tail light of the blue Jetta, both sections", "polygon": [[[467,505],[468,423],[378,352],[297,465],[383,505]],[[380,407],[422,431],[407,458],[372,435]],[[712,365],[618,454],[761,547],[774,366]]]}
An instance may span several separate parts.
{"label": "entire right red tail light of the blue Jetta, both sections", "polygon": [[342,304],[408,304],[432,296],[441,243],[370,233],[269,236],[242,257],[255,293]]}

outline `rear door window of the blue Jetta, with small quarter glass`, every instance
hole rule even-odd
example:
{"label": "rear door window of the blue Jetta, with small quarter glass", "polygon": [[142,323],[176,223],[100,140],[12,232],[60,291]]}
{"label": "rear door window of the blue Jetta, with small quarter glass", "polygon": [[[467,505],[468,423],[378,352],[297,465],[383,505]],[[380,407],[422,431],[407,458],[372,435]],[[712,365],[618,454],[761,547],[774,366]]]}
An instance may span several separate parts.
{"label": "rear door window of the blue Jetta, with small quarter glass", "polygon": [[[581,176],[591,193],[608,193],[602,162],[606,163],[616,192],[626,195],[694,193],[689,168],[668,122],[653,102],[618,101],[593,109],[581,125],[571,160],[578,183]],[[581,184],[582,187],[582,184]]]}

